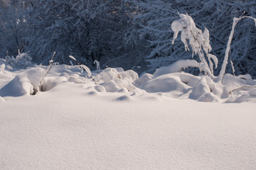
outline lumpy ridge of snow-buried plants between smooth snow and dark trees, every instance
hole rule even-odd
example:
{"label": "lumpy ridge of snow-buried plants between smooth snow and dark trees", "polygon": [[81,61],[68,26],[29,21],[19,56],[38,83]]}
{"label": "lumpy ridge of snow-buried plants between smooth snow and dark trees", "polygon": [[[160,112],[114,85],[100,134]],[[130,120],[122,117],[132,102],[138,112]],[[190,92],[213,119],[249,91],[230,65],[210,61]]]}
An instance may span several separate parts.
{"label": "lumpy ridge of snow-buried plants between smooth snow and dark trees", "polygon": [[117,101],[129,101],[130,97],[156,100],[163,97],[190,98],[196,101],[235,103],[255,100],[256,81],[250,75],[235,77],[225,74],[223,82],[215,82],[207,75],[194,76],[181,72],[187,67],[198,67],[198,62],[180,60],[169,67],[156,69],[154,74],[143,74],[141,77],[132,70],[107,68],[100,73],[92,72],[92,78],[89,78],[87,73],[81,72],[79,67],[55,65],[43,80],[41,89],[38,89],[46,67],[9,72],[6,71],[5,64],[1,64],[0,75],[6,80],[0,81],[0,96],[29,95],[35,90],[50,91],[63,82],[69,82],[83,84],[85,88],[92,89],[91,94],[106,92],[125,94],[126,97],[119,98]]}

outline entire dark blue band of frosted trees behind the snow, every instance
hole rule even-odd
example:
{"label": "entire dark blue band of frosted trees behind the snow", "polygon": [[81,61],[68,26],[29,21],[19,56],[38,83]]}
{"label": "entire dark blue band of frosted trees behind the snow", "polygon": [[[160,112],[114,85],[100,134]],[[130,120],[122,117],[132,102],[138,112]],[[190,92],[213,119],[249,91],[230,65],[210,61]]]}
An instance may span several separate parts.
{"label": "entire dark blue band of frosted trees behind the snow", "polygon": [[[56,52],[59,64],[70,64],[68,56],[72,55],[90,69],[96,69],[97,60],[102,69],[152,73],[177,60],[191,59],[192,52],[184,50],[181,40],[171,44],[171,23],[178,13],[188,13],[198,28],[208,28],[211,53],[223,61],[233,18],[256,18],[256,1],[0,0],[0,57],[27,52],[36,64],[48,64]],[[256,79],[254,25],[250,19],[238,23],[229,62],[236,75],[250,74]],[[230,63],[226,72],[232,73]]]}

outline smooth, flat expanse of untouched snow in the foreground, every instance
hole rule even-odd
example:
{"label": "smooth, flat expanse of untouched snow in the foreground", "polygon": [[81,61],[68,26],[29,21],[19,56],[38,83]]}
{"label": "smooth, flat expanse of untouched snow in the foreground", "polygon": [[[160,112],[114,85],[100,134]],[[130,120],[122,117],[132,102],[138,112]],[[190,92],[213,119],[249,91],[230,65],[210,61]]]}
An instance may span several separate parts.
{"label": "smooth, flat expanse of untouched snow in the foreground", "polygon": [[65,81],[0,102],[0,169],[255,169],[255,103],[92,90]]}

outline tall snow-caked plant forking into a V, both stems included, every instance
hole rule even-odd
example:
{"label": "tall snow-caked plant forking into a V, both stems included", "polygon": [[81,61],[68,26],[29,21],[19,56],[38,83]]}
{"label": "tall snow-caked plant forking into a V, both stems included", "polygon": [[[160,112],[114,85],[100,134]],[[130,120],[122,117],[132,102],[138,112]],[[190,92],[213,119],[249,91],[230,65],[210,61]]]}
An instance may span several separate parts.
{"label": "tall snow-caked plant forking into a V, both stems included", "polygon": [[[174,39],[172,43],[174,43],[174,40],[178,36],[178,32],[181,31],[181,41],[185,45],[185,50],[189,50],[188,42],[190,47],[193,50],[193,54],[196,54],[199,56],[199,59],[201,60],[201,63],[199,63],[199,69],[203,70],[208,74],[215,82],[222,81],[225,69],[228,64],[228,54],[230,52],[230,45],[232,42],[235,26],[242,18],[252,18],[251,16],[241,16],[240,18],[234,18],[233,19],[233,26],[232,30],[230,32],[230,36],[228,38],[228,44],[225,50],[225,57],[223,60],[222,67],[220,69],[220,74],[218,77],[215,77],[213,75],[213,62],[215,64],[215,68],[218,64],[218,59],[215,55],[211,55],[209,52],[211,50],[210,47],[210,40],[209,40],[209,31],[207,28],[205,28],[205,31],[202,32],[202,30],[196,28],[196,24],[193,22],[193,19],[191,16],[188,16],[188,14],[180,14],[180,19],[174,21],[171,23],[171,29],[174,31]],[[256,26],[256,18],[252,18],[255,21]],[[205,55],[208,57],[208,62],[206,61]],[[213,60],[213,62],[212,62]],[[233,62],[230,60],[233,68]],[[208,64],[209,63],[209,64]]]}

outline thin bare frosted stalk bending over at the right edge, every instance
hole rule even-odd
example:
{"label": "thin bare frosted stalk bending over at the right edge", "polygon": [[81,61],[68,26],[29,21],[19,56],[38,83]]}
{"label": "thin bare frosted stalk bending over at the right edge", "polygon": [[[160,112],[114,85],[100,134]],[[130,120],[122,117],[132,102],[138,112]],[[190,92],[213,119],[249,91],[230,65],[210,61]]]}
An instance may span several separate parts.
{"label": "thin bare frosted stalk bending over at the right edge", "polygon": [[223,60],[222,67],[220,69],[220,75],[218,76],[216,81],[222,81],[223,80],[223,77],[224,77],[224,74],[225,74],[225,69],[226,69],[227,64],[228,64],[228,53],[230,52],[230,45],[231,45],[232,38],[233,38],[233,35],[234,35],[234,32],[235,32],[235,26],[237,25],[238,21],[240,21],[242,18],[252,18],[255,21],[255,26],[256,26],[256,18],[253,18],[251,16],[242,16],[240,18],[234,18],[233,19],[233,26],[232,26],[232,30],[230,32],[230,36],[228,38],[228,44],[227,44],[227,48],[225,50],[225,57],[224,57],[224,60]]}

